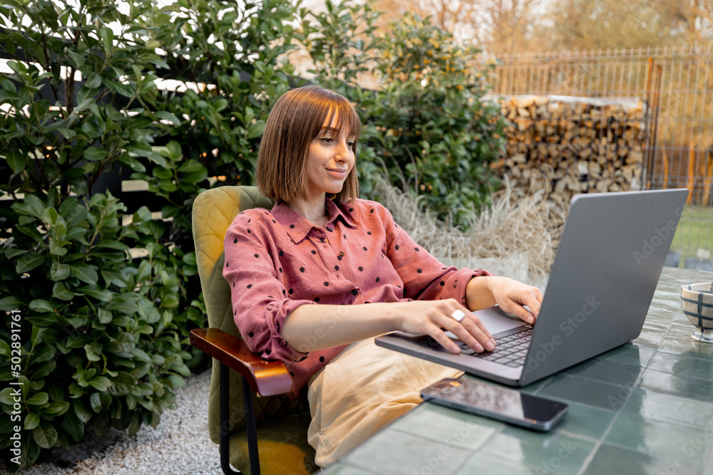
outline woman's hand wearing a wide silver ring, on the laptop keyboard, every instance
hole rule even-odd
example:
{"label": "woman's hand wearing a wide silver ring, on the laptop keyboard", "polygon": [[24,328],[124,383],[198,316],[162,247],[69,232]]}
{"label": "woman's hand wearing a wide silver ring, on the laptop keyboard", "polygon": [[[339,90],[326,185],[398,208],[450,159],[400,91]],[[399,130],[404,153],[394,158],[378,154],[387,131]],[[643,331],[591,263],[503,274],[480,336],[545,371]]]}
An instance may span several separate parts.
{"label": "woman's hand wearing a wide silver ring, on the laptop keyboard", "polygon": [[[393,311],[396,329],[406,333],[426,333],[451,353],[461,353],[460,347],[448,338],[445,331],[455,334],[463,343],[478,353],[495,349],[495,340],[483,322],[453,298],[436,301],[411,301],[388,304]],[[466,314],[458,322],[453,315],[456,310]]]}

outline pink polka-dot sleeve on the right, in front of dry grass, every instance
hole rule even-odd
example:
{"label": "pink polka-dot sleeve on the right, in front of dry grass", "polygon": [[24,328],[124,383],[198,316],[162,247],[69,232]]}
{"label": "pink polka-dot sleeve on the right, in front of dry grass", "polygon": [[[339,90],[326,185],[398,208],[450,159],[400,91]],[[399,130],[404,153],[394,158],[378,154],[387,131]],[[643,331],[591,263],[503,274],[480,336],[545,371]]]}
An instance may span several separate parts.
{"label": "pink polka-dot sleeve on the right, in front of dry grass", "polygon": [[386,229],[386,255],[404,282],[404,297],[414,300],[455,298],[466,303],[468,281],[477,276],[492,276],[483,269],[444,266],[426,249],[416,244],[394,222],[388,209],[379,206],[379,216]]}

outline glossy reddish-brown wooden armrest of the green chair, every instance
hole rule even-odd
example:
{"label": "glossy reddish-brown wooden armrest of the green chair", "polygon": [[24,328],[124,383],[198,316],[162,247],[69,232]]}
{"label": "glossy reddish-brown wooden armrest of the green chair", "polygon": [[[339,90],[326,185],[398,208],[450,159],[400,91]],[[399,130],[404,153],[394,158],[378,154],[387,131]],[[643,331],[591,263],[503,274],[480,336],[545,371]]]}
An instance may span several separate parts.
{"label": "glossy reddish-brown wooden armrest of the green chair", "polygon": [[194,328],[190,330],[189,340],[195,348],[239,372],[259,397],[292,391],[292,377],[282,361],[264,360],[252,353],[240,338],[220,328]]}

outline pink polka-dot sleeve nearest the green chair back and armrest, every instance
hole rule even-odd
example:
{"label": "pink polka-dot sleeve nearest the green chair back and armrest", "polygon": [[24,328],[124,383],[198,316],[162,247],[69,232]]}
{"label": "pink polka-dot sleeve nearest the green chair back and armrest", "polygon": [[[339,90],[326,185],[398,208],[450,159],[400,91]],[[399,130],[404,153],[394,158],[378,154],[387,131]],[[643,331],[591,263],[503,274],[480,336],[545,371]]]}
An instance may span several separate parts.
{"label": "pink polka-dot sleeve nearest the green chair back and armrest", "polygon": [[223,276],[230,284],[235,325],[254,353],[271,360],[296,362],[307,353],[282,338],[284,319],[309,300],[287,296],[277,247],[262,218],[238,214],[225,234]]}

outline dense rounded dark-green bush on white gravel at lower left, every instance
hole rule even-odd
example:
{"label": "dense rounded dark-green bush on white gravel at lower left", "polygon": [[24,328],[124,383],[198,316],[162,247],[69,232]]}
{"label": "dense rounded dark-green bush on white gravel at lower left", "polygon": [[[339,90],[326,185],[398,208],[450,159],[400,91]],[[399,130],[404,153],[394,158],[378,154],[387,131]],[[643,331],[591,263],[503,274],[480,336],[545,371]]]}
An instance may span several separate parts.
{"label": "dense rounded dark-green bush on white gravel at lower left", "polygon": [[[80,442],[89,427],[98,437],[110,426],[130,434],[141,424],[155,427],[190,374],[190,353],[181,350],[173,322],[180,296],[174,269],[195,259],[165,253],[163,223],[145,207],[121,226],[125,207],[111,195],[56,207],[57,194],[26,194],[13,204],[5,223],[12,236],[0,250],[0,310],[22,315],[19,348],[9,319],[0,329],[0,380],[22,383],[25,466],[41,449]],[[130,246],[148,256],[127,259]],[[11,349],[21,351],[19,378]],[[0,392],[4,449],[14,425],[12,391]]]}

